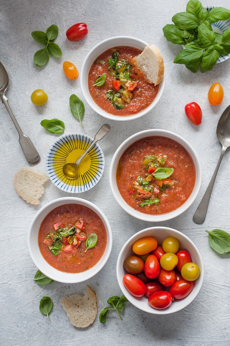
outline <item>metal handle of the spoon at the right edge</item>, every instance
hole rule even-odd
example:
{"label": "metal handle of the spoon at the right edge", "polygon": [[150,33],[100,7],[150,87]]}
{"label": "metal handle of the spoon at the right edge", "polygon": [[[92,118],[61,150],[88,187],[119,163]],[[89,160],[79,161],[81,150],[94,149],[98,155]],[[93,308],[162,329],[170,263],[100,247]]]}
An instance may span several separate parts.
{"label": "metal handle of the spoon at the right edge", "polygon": [[222,152],[220,154],[220,158],[219,158],[219,161],[217,163],[217,166],[215,167],[215,171],[212,175],[212,179],[209,183],[207,190],[205,191],[204,197],[202,198],[198,208],[195,211],[195,214],[193,216],[193,221],[196,224],[203,224],[203,222],[205,220],[206,213],[207,213],[208,206],[209,206],[209,200],[210,200],[211,193],[212,193],[212,188],[213,188],[215,178],[217,176],[217,172],[219,170],[222,158],[224,156],[224,153],[226,152],[226,149],[227,149],[226,147],[224,147],[224,146],[222,147]]}

